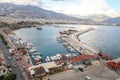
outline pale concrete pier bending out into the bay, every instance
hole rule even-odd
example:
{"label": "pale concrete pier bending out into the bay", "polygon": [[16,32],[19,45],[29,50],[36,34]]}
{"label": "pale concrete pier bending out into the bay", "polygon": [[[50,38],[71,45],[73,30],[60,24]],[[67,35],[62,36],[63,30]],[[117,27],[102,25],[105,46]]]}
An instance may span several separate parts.
{"label": "pale concrete pier bending out into the bay", "polygon": [[[84,33],[87,33],[89,31],[92,31],[94,30],[94,28],[88,28],[86,30],[81,30],[81,31],[78,31],[78,32],[75,32],[73,34],[70,34],[68,35],[68,38],[66,39],[66,42],[72,46],[77,52],[81,53],[82,55],[87,55],[87,54],[97,54],[99,53],[98,50],[88,46],[86,43],[84,42],[81,42],[79,39],[78,39],[78,36],[79,35],[82,35]],[[81,51],[80,50],[80,47],[84,47],[85,48],[85,51]]]}

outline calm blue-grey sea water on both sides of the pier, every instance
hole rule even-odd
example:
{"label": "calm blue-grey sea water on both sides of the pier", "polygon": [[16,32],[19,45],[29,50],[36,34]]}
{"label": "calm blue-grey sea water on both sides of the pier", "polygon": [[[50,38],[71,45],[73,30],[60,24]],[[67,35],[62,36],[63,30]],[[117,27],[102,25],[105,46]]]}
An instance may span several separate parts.
{"label": "calm blue-grey sea water on both sides of the pier", "polygon": [[[73,28],[86,29],[91,25],[59,25],[61,28],[53,25],[43,25],[42,30],[36,28],[22,28],[15,30],[17,36],[22,37],[24,41],[33,43],[37,51],[44,57],[57,53],[68,53],[61,43],[58,43],[56,37],[59,31]],[[120,27],[118,26],[92,26],[95,30],[80,35],[81,41],[88,45],[110,54],[113,58],[120,57]]]}

